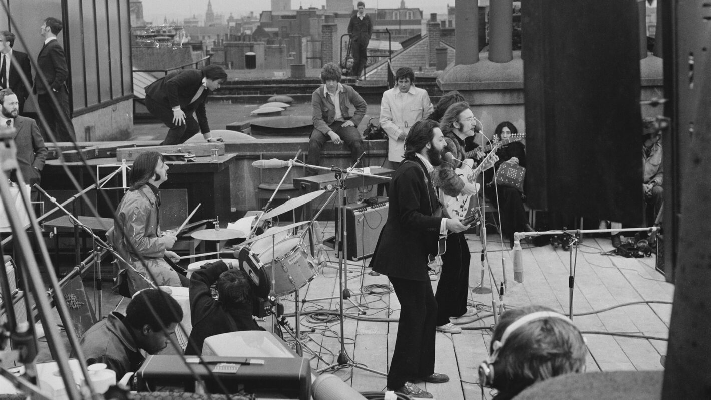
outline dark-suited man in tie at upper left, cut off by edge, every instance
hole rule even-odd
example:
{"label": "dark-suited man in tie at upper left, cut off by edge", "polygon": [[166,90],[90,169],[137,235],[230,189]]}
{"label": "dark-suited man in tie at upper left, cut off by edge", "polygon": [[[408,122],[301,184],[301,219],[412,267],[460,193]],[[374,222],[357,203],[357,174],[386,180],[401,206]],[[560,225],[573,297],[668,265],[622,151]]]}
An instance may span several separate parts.
{"label": "dark-suited man in tie at upper left, cut off by edge", "polygon": [[12,89],[20,102],[19,112],[22,114],[25,100],[30,94],[28,88],[22,83],[20,73],[25,75],[29,82],[32,80],[30,58],[27,53],[13,50],[15,34],[9,31],[0,31],[0,89]]}

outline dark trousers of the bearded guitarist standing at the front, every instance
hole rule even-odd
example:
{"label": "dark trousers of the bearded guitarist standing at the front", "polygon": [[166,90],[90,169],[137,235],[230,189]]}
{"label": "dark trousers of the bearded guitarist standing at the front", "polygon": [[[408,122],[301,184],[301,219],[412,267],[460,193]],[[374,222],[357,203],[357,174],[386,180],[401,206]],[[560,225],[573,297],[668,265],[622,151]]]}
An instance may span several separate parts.
{"label": "dark trousers of the bearded guitarist standing at the front", "polygon": [[434,322],[437,300],[429,280],[390,277],[400,301],[395,350],[387,371],[387,389],[400,389],[405,382],[434,373]]}

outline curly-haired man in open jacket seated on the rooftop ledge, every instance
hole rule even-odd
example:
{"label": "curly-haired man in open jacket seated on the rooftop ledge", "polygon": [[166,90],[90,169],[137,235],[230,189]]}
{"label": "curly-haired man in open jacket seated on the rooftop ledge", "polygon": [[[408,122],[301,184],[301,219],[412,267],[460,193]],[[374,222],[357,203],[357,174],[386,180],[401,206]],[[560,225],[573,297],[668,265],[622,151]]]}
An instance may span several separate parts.
{"label": "curly-haired man in open jacket seated on the rooftop ledge", "polygon": [[[328,140],[339,145],[345,142],[351,149],[351,162],[355,164],[363,154],[363,138],[355,127],[363,120],[368,105],[355,89],[341,83],[338,64],[324,65],[321,81],[324,84],[311,95],[314,132],[309,140],[309,164],[321,165],[321,148]],[[350,107],[355,107],[353,116]],[[316,175],[318,171],[309,171],[309,174]]]}

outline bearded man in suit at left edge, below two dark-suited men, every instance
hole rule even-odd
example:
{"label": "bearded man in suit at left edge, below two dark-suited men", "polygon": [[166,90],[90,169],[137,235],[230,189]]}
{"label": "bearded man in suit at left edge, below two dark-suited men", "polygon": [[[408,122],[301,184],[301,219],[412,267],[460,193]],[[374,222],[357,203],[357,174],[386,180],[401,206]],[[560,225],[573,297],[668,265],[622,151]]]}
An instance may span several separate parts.
{"label": "bearded man in suit at left edge, below two dark-suited men", "polygon": [[[17,164],[23,180],[32,187],[40,183],[40,172],[47,158],[47,147],[35,120],[18,115],[19,102],[10,89],[0,90],[0,127],[14,127],[16,130],[15,146],[17,147]],[[10,180],[17,182],[16,174],[10,175]],[[32,191],[36,199],[36,191]]]}

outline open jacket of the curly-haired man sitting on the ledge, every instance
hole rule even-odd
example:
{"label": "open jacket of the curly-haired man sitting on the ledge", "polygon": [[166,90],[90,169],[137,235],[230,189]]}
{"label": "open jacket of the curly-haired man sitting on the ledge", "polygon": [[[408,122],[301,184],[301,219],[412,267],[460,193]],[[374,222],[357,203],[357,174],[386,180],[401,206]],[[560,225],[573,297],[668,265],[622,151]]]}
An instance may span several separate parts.
{"label": "open jacket of the curly-haired man sitting on the ledge", "polygon": [[[353,124],[357,127],[360,121],[363,120],[365,110],[368,110],[368,105],[351,86],[341,85],[343,86],[343,91],[338,92],[338,102],[341,103],[341,115],[343,115],[344,120],[353,121]],[[311,95],[311,120],[314,122],[314,127],[320,132],[323,132],[324,135],[331,130],[329,125],[333,124],[333,121],[336,120],[336,105],[333,104],[330,97],[326,98],[324,95],[325,86],[326,85],[319,86]],[[351,117],[351,105],[355,107],[353,117]]]}

